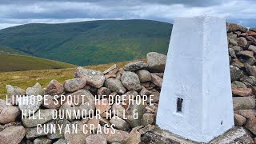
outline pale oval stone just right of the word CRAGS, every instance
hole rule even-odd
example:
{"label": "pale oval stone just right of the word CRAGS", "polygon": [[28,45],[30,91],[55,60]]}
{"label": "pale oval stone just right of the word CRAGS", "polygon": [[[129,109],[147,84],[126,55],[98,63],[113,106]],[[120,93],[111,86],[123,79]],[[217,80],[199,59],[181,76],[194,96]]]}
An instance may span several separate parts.
{"label": "pale oval stone just right of the word CRAGS", "polygon": [[110,119],[110,123],[118,130],[127,131],[130,129],[129,123],[115,115]]}

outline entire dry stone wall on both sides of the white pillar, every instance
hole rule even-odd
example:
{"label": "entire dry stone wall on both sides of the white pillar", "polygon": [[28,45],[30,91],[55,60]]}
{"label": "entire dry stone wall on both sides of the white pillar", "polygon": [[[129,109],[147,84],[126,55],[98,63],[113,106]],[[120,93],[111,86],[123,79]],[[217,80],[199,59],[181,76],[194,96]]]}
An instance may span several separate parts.
{"label": "entire dry stone wall on both sides of the white pillar", "polygon": [[[235,126],[241,126],[246,132],[243,141],[246,143],[256,142],[256,28],[249,30],[244,26],[227,23],[227,35],[230,55],[230,77],[234,102]],[[146,143],[146,133],[154,129],[155,116],[158,109],[158,100],[162,86],[162,77],[166,64],[166,55],[150,52],[147,54],[147,62],[130,62],[123,68],[117,65],[111,66],[104,72],[88,70],[78,67],[74,72],[74,78],[66,80],[62,85],[52,80],[46,88],[39,83],[22,90],[16,86],[6,86],[7,93],[12,95],[27,95],[14,99],[12,102],[0,99],[0,144],[6,143],[55,143],[55,144],[84,144],[84,143]],[[32,97],[36,95],[38,97]],[[46,101],[41,100],[40,95],[45,95]],[[54,103],[54,97],[58,95],[70,95],[70,99],[79,98],[76,104],[63,102]],[[94,95],[103,100],[94,102]],[[106,97],[103,97],[103,95]],[[130,105],[118,105],[108,101],[108,96],[121,95],[152,95],[153,104],[149,102]],[[64,97],[65,97],[64,96]],[[26,104],[34,98],[34,104]],[[60,99],[61,97],[56,97]],[[117,97],[115,97],[117,98]],[[149,98],[148,98],[149,99]],[[135,101],[135,99],[134,99]],[[48,105],[45,104],[48,103]],[[30,113],[34,119],[22,118],[21,110],[34,110]],[[53,110],[99,110],[101,118],[64,118],[53,119]],[[112,114],[107,118],[106,112],[110,110],[124,112],[125,114]],[[138,111],[138,118],[133,118],[133,110]],[[40,118],[38,111],[40,111]],[[30,115],[30,114],[29,114]],[[123,118],[123,117],[126,118]],[[117,118],[118,117],[118,118]],[[168,121],[168,120],[166,120]],[[38,133],[38,124],[42,133]],[[58,128],[57,133],[47,131],[47,125],[78,125],[76,134],[64,134],[63,128]],[[90,124],[97,127],[114,124],[114,134],[82,133],[83,125]],[[57,126],[58,127],[58,126]],[[87,129],[91,129],[88,127]],[[110,129],[102,127],[102,129]]]}

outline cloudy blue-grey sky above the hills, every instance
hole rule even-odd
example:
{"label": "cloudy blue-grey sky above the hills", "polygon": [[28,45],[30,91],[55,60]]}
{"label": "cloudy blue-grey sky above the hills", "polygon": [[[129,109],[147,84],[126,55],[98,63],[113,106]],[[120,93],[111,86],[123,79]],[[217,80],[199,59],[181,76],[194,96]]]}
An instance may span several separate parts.
{"label": "cloudy blue-grey sky above the hills", "polygon": [[255,0],[0,0],[0,29],[25,23],[97,19],[171,22],[186,14],[218,14],[256,27]]}

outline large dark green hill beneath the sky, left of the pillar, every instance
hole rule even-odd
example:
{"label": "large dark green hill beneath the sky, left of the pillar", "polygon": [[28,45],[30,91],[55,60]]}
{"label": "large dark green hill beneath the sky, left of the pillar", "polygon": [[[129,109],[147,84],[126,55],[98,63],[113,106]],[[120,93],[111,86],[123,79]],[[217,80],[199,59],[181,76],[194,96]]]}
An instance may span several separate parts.
{"label": "large dark green hill beneath the sky, left of the pillar", "polygon": [[79,66],[166,54],[172,25],[150,20],[26,24],[0,30],[0,46]]}

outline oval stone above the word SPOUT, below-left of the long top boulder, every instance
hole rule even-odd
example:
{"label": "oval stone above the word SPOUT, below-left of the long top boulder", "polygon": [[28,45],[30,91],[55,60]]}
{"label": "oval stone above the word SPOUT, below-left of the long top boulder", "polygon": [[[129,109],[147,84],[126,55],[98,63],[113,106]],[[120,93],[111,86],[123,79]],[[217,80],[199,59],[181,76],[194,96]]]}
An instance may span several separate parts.
{"label": "oval stone above the word SPOUT, below-left of the long top boulder", "polygon": [[64,88],[68,92],[81,90],[85,86],[86,86],[85,78],[73,78],[73,79],[66,80],[64,82]]}

